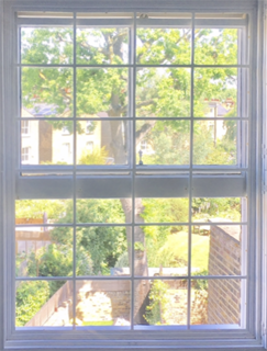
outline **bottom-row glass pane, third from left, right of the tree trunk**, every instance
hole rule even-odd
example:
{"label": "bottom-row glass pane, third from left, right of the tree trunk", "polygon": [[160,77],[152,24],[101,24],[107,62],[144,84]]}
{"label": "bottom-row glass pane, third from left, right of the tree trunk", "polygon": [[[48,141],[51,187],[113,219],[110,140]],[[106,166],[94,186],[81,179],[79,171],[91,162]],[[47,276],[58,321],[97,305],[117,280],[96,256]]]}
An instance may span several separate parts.
{"label": "bottom-row glass pane, third from left, right of the tree trunk", "polygon": [[135,325],[182,326],[187,324],[188,283],[186,280],[135,281],[134,291]]}

